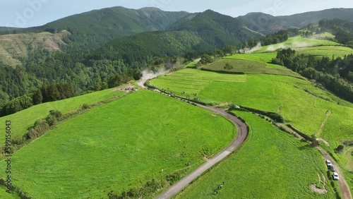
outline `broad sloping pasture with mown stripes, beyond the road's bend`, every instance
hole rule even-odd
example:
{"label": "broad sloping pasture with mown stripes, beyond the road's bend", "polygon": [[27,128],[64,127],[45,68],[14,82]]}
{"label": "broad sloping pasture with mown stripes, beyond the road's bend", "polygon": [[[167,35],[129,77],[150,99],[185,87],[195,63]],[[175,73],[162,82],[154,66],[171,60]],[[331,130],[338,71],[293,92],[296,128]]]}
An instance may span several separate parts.
{"label": "broad sloping pasture with mown stripes, beyond the road's bend", "polygon": [[[263,74],[229,75],[184,69],[150,83],[182,97],[192,99],[195,97],[192,94],[196,94],[201,102],[231,102],[277,112],[308,135],[318,131],[329,110],[332,114],[323,127],[323,138],[333,147],[340,145],[340,140],[352,139],[353,104],[299,78]],[[337,129],[337,126],[340,128]]]}

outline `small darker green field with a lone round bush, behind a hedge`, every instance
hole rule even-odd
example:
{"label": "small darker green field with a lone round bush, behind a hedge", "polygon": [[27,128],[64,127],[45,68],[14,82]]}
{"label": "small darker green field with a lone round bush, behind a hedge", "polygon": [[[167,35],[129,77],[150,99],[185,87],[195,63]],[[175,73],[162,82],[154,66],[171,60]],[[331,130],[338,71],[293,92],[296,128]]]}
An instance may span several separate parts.
{"label": "small darker green field with a lone round bush, behind a hedge", "polygon": [[[232,56],[236,57],[236,56]],[[229,64],[233,68],[230,70],[225,69],[225,64]],[[213,71],[229,71],[229,72],[243,72],[249,74],[275,74],[281,76],[298,76],[297,73],[293,73],[285,67],[270,68],[265,63],[256,61],[246,61],[241,59],[220,59],[213,64],[203,67]]]}

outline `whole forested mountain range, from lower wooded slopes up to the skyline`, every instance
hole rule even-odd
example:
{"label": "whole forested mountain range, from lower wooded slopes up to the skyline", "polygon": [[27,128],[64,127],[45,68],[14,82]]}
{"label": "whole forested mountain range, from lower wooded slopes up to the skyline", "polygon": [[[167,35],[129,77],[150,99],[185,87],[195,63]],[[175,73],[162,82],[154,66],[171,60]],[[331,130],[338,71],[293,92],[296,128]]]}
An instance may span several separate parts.
{"label": "whole forested mountain range, from lower wooded slopes up to the skyline", "polygon": [[[73,82],[79,91],[90,90],[123,73],[135,77],[156,56],[195,52],[199,56],[229,45],[239,47],[278,30],[333,18],[352,22],[353,9],[292,16],[249,13],[233,18],[212,10],[187,13],[113,7],[38,27],[0,27],[0,102],[50,83]],[[344,36],[350,40],[350,35]],[[99,76],[92,72],[101,70],[105,72]],[[6,80],[13,77],[20,78]]]}

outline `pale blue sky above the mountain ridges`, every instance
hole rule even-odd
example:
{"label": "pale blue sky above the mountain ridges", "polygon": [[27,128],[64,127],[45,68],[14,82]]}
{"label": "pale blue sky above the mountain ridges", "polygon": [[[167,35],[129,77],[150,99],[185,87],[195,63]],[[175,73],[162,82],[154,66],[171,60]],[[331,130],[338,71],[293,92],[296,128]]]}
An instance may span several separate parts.
{"label": "pale blue sky above the mountain ridges", "polygon": [[94,9],[113,6],[126,8],[158,7],[164,11],[191,13],[212,9],[229,16],[250,12],[274,16],[292,15],[326,8],[353,8],[352,0],[0,0],[0,26],[32,27]]}

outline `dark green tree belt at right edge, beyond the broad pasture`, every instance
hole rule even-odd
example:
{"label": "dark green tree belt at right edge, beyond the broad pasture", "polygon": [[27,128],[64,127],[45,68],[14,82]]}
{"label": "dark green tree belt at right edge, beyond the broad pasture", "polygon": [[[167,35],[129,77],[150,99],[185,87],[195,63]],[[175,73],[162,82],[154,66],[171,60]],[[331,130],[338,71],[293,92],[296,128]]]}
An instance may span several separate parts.
{"label": "dark green tree belt at right edge, beyond the broad pasture", "polygon": [[353,54],[337,59],[315,59],[314,56],[297,54],[289,48],[277,52],[273,64],[286,66],[301,76],[314,80],[342,99],[353,102]]}

